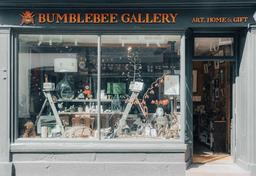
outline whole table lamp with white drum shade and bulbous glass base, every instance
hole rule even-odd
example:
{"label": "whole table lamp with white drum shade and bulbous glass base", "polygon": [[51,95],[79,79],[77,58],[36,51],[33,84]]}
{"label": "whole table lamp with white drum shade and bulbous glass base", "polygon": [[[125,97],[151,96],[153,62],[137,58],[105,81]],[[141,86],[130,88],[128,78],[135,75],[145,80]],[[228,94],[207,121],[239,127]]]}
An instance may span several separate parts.
{"label": "whole table lamp with white drum shade and bulbous glass base", "polygon": [[68,72],[77,72],[77,59],[54,59],[54,72],[64,72],[64,78],[56,86],[57,99],[72,99],[76,93],[74,83],[68,80]]}

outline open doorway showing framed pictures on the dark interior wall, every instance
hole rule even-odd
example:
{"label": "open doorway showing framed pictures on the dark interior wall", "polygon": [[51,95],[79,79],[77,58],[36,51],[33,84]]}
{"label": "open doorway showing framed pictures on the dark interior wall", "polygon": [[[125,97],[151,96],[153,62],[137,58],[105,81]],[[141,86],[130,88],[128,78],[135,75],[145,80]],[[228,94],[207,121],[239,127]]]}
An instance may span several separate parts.
{"label": "open doorway showing framed pictures on the dark interior wall", "polygon": [[232,163],[231,61],[193,61],[193,162]]}

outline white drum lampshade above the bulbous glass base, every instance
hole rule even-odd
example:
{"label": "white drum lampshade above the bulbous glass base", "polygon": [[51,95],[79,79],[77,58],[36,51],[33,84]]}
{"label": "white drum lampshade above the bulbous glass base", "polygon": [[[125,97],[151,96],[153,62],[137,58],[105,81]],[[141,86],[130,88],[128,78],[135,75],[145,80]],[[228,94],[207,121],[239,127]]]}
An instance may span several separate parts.
{"label": "white drum lampshade above the bulbous glass base", "polygon": [[54,72],[77,72],[77,59],[54,59]]}

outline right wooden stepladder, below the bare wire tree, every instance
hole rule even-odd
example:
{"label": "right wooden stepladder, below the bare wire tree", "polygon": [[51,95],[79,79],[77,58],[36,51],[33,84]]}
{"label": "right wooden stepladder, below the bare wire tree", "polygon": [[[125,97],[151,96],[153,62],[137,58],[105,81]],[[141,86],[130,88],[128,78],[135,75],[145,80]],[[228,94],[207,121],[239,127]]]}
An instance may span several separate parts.
{"label": "right wooden stepladder, below the bare wire tree", "polygon": [[[137,100],[138,101],[137,105],[140,107],[140,101],[138,99],[138,95],[139,95],[140,91],[138,91],[138,90],[131,90],[131,91],[132,91],[132,95],[130,97],[130,102],[134,101],[134,100]],[[119,135],[122,132],[122,129],[124,128],[124,123],[126,121],[126,118],[129,114],[129,111],[130,111],[131,107],[132,107],[132,103],[128,103],[128,105],[126,106],[126,108],[124,110],[124,114],[122,115],[122,118],[119,121],[119,125],[118,125],[117,130],[116,130],[116,135]],[[144,118],[146,119],[146,121],[148,122],[148,125],[150,126],[150,128],[153,128],[153,125],[150,123],[148,117],[145,116],[144,109],[142,107],[140,107],[140,110],[142,111],[142,114],[143,114]]]}

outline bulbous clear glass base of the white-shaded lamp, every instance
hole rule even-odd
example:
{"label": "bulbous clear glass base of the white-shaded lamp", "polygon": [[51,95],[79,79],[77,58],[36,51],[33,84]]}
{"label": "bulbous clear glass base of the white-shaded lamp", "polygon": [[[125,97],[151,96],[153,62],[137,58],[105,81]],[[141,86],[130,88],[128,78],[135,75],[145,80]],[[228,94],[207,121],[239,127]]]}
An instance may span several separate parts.
{"label": "bulbous clear glass base of the white-shaded lamp", "polygon": [[74,83],[68,80],[68,74],[65,72],[64,78],[56,86],[57,99],[72,99],[76,93]]}

